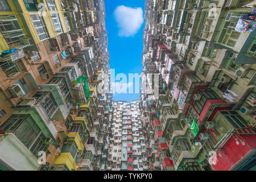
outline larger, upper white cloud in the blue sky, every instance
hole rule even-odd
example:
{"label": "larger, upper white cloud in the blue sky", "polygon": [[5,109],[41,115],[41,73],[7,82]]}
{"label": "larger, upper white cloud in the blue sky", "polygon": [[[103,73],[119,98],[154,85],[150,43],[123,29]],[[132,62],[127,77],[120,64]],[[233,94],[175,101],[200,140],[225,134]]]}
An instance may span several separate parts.
{"label": "larger, upper white cloud in the blue sky", "polygon": [[119,36],[128,37],[137,34],[143,23],[141,7],[118,6],[114,11],[114,16],[119,27]]}

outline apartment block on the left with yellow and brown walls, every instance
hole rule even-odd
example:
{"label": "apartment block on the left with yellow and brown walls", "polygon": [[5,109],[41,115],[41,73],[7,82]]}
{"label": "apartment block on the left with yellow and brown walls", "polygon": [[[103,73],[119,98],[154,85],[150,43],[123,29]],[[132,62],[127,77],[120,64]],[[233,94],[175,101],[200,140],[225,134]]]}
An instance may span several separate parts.
{"label": "apartment block on the left with yellow and brown walls", "polygon": [[1,0],[0,30],[0,169],[104,170],[104,1]]}

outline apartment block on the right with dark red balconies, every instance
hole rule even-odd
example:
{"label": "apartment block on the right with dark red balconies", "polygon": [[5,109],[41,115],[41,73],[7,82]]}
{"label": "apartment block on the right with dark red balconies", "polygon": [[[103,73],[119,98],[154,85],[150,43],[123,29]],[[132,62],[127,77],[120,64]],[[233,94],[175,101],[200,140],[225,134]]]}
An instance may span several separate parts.
{"label": "apartment block on the right with dark red balconies", "polygon": [[146,0],[142,72],[159,75],[159,95],[139,100],[151,170],[255,170],[250,2]]}

